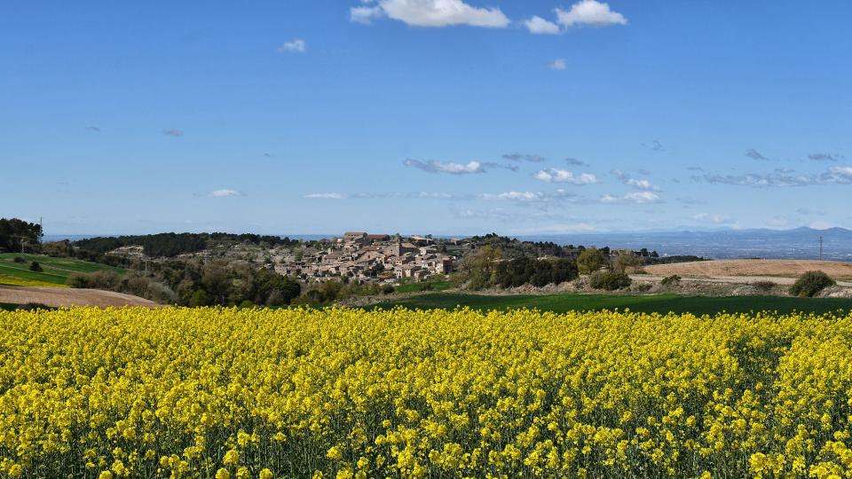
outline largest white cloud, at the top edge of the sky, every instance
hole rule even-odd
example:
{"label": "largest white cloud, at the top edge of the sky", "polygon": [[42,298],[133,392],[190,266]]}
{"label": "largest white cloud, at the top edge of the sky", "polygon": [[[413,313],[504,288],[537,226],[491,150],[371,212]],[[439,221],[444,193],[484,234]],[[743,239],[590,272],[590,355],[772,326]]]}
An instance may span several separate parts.
{"label": "largest white cloud, at the top edge of the sky", "polygon": [[359,23],[386,16],[414,27],[507,27],[499,8],[480,8],[461,0],[379,0],[375,6],[352,7],[350,19]]}

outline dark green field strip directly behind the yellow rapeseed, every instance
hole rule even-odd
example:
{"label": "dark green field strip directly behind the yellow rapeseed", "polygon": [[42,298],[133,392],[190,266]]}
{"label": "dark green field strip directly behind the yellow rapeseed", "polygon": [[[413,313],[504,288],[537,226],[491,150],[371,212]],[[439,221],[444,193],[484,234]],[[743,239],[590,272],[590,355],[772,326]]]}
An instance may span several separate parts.
{"label": "dark green field strip directly behind the yellow rapeseed", "polygon": [[836,310],[852,310],[852,299],[792,298],[782,296],[682,296],[679,294],[511,294],[490,296],[484,294],[433,293],[422,294],[399,301],[380,302],[374,308],[405,306],[420,309],[453,309],[469,306],[477,310],[509,310],[535,308],[554,312],[571,310],[624,310],[636,312],[715,314],[721,311],[778,311],[794,310],[823,314]]}

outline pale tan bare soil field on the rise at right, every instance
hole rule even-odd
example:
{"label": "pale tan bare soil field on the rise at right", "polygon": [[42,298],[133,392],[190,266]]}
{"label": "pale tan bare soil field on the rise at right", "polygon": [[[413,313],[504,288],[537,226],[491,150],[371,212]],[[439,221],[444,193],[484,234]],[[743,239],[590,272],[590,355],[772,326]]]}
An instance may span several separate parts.
{"label": "pale tan bare soil field on the rise at right", "polygon": [[684,278],[752,279],[797,278],[805,271],[824,271],[833,279],[852,279],[852,263],[808,260],[718,260],[694,263],[655,264],[645,271],[652,276]]}

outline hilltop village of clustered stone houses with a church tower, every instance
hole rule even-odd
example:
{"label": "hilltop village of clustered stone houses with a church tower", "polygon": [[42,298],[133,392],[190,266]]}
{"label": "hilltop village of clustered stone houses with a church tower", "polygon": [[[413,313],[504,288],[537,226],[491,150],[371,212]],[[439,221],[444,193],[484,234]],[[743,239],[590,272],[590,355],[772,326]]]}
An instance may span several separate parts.
{"label": "hilltop village of clustered stone houses with a church tower", "polygon": [[464,251],[475,246],[464,240],[431,236],[346,232],[320,243],[322,247],[286,250],[274,258],[274,269],[304,281],[350,277],[365,282],[425,281],[454,270]]}

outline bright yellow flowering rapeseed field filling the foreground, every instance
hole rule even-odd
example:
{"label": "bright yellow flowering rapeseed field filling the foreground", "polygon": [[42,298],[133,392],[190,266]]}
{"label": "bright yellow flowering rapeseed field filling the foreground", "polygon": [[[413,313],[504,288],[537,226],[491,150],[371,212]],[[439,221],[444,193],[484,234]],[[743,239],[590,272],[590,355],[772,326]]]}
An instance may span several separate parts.
{"label": "bright yellow flowering rapeseed field filling the foreground", "polygon": [[852,477],[852,316],[0,312],[0,476]]}

